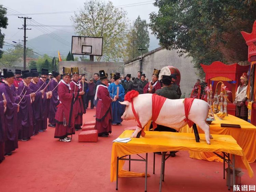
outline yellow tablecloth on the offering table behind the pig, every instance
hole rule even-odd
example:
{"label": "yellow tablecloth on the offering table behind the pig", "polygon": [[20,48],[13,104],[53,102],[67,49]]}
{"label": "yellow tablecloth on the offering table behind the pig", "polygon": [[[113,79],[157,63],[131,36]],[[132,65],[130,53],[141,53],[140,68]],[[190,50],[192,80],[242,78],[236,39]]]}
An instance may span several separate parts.
{"label": "yellow tablecloth on the offering table behind the pig", "polygon": [[[245,157],[249,163],[256,160],[256,127],[240,118],[233,115],[224,117],[220,120],[215,116],[215,121],[210,124],[211,134],[231,135],[236,139],[238,145],[243,149]],[[224,128],[221,127],[221,123],[226,124],[240,124],[241,128]],[[193,133],[193,128],[189,128],[188,125],[180,129],[181,133]],[[199,133],[204,133],[203,130],[198,128]],[[207,161],[222,161],[221,158],[213,153],[194,152],[189,151],[189,157],[194,159],[203,159]]]}

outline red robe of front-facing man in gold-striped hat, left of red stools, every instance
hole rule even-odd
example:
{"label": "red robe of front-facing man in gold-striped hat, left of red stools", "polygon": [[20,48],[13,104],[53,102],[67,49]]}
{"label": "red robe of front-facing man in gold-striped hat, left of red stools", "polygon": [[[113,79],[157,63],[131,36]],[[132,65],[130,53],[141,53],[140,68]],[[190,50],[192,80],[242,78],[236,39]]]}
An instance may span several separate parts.
{"label": "red robe of front-facing man in gold-striped hat, left of red stools", "polygon": [[79,92],[83,90],[83,85],[80,82],[72,80],[70,82],[71,93],[77,92],[77,96],[74,101],[74,115],[75,115],[75,128],[81,128],[83,125],[83,114],[85,113],[83,95],[79,95]]}

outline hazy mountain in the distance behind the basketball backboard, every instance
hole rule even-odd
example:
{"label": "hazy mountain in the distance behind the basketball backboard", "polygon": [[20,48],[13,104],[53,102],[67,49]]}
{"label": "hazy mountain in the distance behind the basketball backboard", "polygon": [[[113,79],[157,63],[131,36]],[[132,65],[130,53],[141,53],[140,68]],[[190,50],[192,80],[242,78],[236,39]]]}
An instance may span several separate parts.
{"label": "hazy mountain in the distance behind the basketball backboard", "polygon": [[[71,51],[71,39],[72,35],[75,35],[72,28],[65,28],[62,30],[56,30],[49,34],[39,35],[36,38],[27,41],[27,47],[32,48],[35,52],[43,55],[47,54],[51,57],[58,56],[58,50],[62,58],[66,58],[69,51]],[[159,40],[155,38],[153,34],[150,36],[150,47],[149,51],[159,47]],[[7,46],[3,47],[6,50]],[[75,56],[76,57],[76,56]],[[87,56],[88,57],[88,56]]]}

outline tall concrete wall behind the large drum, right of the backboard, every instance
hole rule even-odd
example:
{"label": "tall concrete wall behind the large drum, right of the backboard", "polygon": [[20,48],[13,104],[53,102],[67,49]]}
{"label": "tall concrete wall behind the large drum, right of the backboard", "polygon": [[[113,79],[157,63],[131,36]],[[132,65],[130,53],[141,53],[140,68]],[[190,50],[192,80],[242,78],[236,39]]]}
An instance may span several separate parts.
{"label": "tall concrete wall behind the large drum, right of the backboard", "polygon": [[142,62],[142,72],[145,73],[148,80],[151,80],[154,68],[159,70],[168,65],[176,67],[181,73],[181,92],[182,94],[185,92],[186,97],[191,93],[198,79],[197,70],[191,63],[192,58],[179,57],[176,50],[166,50],[159,47],[142,55],[142,60],[140,60],[140,57],[136,59],[125,62],[125,74],[128,73],[132,77],[137,77],[137,72],[140,71],[140,62]]}

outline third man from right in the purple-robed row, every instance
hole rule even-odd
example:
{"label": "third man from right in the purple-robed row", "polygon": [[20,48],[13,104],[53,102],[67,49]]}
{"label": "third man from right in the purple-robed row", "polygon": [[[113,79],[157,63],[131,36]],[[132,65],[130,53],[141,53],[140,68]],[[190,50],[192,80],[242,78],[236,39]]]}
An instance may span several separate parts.
{"label": "third man from right in the purple-robed row", "polygon": [[38,80],[39,73],[37,71],[30,71],[32,80],[29,84],[30,90],[35,93],[34,102],[32,103],[33,108],[33,135],[37,135],[39,132],[43,132],[40,129],[40,125],[42,124],[42,109],[43,109],[43,101],[42,98],[44,96],[44,90],[38,91]]}

